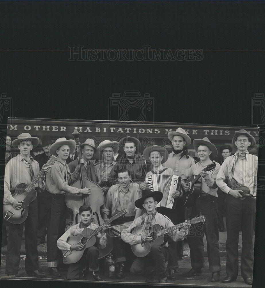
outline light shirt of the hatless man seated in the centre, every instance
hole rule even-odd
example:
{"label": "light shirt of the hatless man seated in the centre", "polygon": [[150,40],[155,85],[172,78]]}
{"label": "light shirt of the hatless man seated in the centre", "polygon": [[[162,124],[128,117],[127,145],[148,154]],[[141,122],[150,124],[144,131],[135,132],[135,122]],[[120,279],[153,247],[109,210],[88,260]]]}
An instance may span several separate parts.
{"label": "light shirt of the hatless man seated in the centre", "polygon": [[129,184],[127,189],[122,188],[121,184],[115,184],[109,188],[104,208],[111,209],[112,216],[123,209],[127,211],[126,216],[135,216],[138,208],[135,207],[134,202],[141,197],[140,187],[137,183]]}

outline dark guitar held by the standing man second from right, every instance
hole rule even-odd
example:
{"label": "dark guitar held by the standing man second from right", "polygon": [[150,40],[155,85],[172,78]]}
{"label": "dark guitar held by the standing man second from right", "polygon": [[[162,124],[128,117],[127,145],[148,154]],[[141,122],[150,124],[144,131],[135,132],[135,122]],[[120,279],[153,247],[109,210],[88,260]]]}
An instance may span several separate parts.
{"label": "dark guitar held by the standing man second from right", "polygon": [[[202,171],[210,172],[214,170],[216,163],[213,161],[211,164],[206,166]],[[189,190],[183,193],[183,196],[179,198],[184,204],[183,207],[191,207],[194,201],[194,197],[200,194],[201,182],[198,182],[201,175],[192,175],[189,179],[185,179],[185,183],[189,184]]]}

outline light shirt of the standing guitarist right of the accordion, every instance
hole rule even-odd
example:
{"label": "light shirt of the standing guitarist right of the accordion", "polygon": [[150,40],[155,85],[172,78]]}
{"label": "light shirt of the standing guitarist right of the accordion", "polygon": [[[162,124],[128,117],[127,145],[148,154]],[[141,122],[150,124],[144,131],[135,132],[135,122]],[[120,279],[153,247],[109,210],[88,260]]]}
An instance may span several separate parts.
{"label": "light shirt of the standing guitarist right of the accordion", "polygon": [[[212,196],[218,197],[217,196],[217,190],[218,187],[215,183],[216,176],[218,174],[218,171],[220,169],[220,164],[216,163],[216,167],[213,171],[209,171],[208,177],[212,180],[205,180],[203,177],[199,178],[199,182],[202,182],[202,193],[207,193]],[[206,167],[207,165],[202,165],[202,162],[199,161],[198,163],[194,164],[191,166],[189,169],[187,169],[182,175],[181,175],[181,183],[184,183],[184,179],[190,179],[190,177],[194,175],[199,175],[200,172]],[[210,186],[210,187],[209,187]]]}

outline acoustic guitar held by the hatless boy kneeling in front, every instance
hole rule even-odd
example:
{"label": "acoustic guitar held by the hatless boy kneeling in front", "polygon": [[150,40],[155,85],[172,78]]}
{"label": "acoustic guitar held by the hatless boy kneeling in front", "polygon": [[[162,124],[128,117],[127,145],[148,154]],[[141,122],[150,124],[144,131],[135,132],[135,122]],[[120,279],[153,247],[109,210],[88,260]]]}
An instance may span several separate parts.
{"label": "acoustic guitar held by the hatless boy kneeling in front", "polygon": [[[126,213],[127,212],[124,209],[112,216],[110,219],[107,219],[104,224],[109,225],[113,220],[118,219]],[[102,229],[102,226],[99,226],[95,230],[91,230],[90,228],[84,228],[81,235],[68,237],[66,241],[68,244],[76,244],[78,242],[81,242],[82,244],[85,244],[85,247],[82,250],[62,250],[65,259],[69,263],[76,263],[78,260],[80,260],[82,255],[84,254],[85,249],[93,246],[96,243],[95,235],[98,234],[98,232],[100,232]]]}

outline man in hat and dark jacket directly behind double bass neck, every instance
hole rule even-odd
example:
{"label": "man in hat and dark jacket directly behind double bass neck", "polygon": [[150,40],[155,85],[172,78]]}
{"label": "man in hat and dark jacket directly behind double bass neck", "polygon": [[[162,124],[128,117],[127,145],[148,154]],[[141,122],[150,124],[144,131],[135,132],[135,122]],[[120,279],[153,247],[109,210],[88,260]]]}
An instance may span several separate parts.
{"label": "man in hat and dark jacket directly behind double bass neck", "polygon": [[[89,138],[86,139],[86,141],[81,144],[82,159],[80,159],[79,161],[85,166],[87,179],[95,183],[98,182],[98,178],[96,176],[94,163],[91,161],[91,158],[96,151],[97,148],[95,147],[95,141]],[[78,159],[70,162],[68,166],[71,172],[71,180],[69,181],[69,183],[73,183],[74,181],[76,181],[76,179],[80,178]]]}

